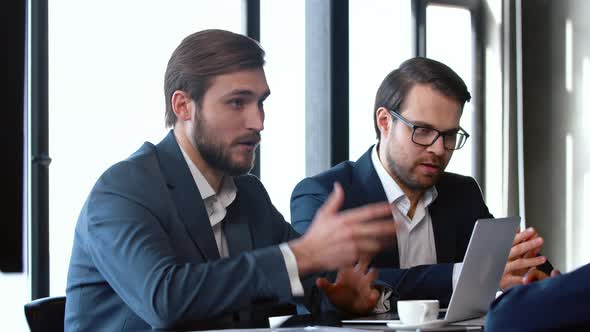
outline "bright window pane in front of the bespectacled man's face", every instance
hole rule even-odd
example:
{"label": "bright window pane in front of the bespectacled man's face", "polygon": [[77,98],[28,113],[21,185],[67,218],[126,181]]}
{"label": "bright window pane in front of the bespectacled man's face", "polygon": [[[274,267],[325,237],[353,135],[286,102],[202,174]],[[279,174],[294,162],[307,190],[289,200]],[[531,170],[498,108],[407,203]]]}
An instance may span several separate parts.
{"label": "bright window pane in front of the bespectacled man's face", "polygon": [[[473,91],[473,46],[471,12],[459,7],[428,5],[426,7],[426,56],[451,67]],[[461,126],[472,136],[473,104],[465,104]],[[447,171],[473,176],[472,140],[453,153]]]}

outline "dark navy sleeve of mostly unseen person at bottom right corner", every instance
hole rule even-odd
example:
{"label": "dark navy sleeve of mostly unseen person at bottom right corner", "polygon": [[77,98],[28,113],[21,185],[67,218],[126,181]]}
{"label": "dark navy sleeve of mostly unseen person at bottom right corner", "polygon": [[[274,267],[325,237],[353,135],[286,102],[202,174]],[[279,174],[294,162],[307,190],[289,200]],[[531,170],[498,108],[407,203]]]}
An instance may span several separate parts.
{"label": "dark navy sleeve of mostly unseen person at bottom right corner", "polygon": [[590,331],[590,264],[498,297],[486,332]]}

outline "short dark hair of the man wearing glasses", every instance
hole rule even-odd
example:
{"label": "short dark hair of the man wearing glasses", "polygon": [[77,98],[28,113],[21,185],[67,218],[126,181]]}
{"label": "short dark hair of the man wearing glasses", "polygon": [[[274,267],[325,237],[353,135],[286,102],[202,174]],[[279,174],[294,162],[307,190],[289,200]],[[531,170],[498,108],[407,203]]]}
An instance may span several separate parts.
{"label": "short dark hair of the man wearing glasses", "polygon": [[408,92],[416,84],[430,84],[436,91],[454,98],[461,105],[461,111],[465,103],[471,100],[465,82],[449,66],[424,57],[406,60],[385,77],[377,90],[373,123],[378,140],[377,109],[385,107],[391,111],[400,111]]}

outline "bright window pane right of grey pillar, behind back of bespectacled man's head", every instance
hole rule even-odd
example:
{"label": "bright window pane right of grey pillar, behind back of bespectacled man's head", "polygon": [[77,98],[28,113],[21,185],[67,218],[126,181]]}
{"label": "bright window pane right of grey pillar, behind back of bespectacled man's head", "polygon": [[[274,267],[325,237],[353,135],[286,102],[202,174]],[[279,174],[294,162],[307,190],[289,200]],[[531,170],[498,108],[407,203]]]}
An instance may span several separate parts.
{"label": "bright window pane right of grey pillar, behind back of bespectacled man's head", "polygon": [[376,143],[375,95],[385,76],[412,56],[407,0],[350,0],[350,159]]}

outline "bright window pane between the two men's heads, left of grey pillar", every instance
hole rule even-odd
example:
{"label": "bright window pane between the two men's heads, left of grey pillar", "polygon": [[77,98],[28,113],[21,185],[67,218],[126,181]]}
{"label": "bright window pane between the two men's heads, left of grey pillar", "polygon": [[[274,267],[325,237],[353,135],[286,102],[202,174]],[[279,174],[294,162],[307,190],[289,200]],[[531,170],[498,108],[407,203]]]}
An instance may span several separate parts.
{"label": "bright window pane between the two men's heads, left of grey pillar", "polygon": [[260,1],[260,42],[272,92],[264,104],[260,177],[290,220],[291,191],[305,176],[305,1]]}

